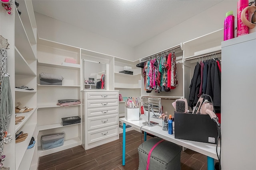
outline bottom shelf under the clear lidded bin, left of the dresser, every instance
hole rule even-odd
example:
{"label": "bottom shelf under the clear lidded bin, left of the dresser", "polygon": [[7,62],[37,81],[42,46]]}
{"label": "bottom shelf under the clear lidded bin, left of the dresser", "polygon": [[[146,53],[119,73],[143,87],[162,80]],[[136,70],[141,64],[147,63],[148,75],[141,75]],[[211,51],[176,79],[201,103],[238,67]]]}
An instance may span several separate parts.
{"label": "bottom shelf under the clear lidded bin, left of the dresser", "polygon": [[53,148],[53,149],[42,150],[42,146],[38,146],[38,154],[39,156],[44,156],[44,155],[52,154],[55,152],[59,152],[61,150],[76,147],[78,145],[81,145],[81,139],[79,137],[75,137],[72,139],[65,140],[63,146]]}

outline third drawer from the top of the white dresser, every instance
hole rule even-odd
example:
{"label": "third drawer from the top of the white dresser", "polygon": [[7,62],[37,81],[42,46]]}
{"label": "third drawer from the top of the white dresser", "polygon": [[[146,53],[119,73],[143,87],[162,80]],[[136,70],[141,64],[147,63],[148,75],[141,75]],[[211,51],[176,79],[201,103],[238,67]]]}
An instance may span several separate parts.
{"label": "third drawer from the top of the white dresser", "polygon": [[87,109],[87,116],[96,116],[96,115],[108,115],[112,113],[118,114],[118,107],[100,107],[100,108],[89,108]]}

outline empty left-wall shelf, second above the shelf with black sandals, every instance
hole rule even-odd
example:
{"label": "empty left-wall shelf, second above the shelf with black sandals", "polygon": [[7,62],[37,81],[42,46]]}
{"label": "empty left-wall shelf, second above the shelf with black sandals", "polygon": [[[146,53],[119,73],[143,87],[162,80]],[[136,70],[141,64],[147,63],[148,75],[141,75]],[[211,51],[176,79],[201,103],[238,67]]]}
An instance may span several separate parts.
{"label": "empty left-wall shelf, second above the shelf with black sandals", "polygon": [[36,56],[34,54],[34,51],[32,50],[26,31],[24,30],[24,26],[22,24],[22,21],[20,20],[18,11],[14,13],[15,13],[15,47],[20,51],[20,53],[26,60],[35,61]]}

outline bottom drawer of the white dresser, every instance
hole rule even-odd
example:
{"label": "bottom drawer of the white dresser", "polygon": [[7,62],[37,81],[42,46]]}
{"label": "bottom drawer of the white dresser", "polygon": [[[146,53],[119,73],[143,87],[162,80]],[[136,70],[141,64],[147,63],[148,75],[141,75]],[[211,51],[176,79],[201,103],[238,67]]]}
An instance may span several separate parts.
{"label": "bottom drawer of the white dresser", "polygon": [[119,135],[119,125],[88,131],[88,144]]}

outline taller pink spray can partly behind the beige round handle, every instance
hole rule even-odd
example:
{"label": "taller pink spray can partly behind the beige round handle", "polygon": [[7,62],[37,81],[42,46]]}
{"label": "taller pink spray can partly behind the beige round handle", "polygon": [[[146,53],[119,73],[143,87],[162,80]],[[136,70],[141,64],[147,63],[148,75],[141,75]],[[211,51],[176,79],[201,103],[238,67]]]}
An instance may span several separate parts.
{"label": "taller pink spray can partly behind the beige round handle", "polygon": [[[249,28],[241,20],[241,12],[248,6],[248,0],[238,0],[237,2],[237,37],[240,35],[246,35],[249,33]],[[247,20],[249,20],[249,12],[245,14]]]}

